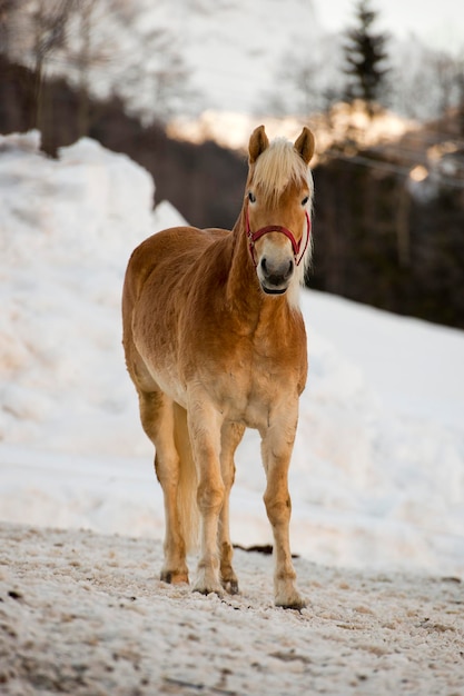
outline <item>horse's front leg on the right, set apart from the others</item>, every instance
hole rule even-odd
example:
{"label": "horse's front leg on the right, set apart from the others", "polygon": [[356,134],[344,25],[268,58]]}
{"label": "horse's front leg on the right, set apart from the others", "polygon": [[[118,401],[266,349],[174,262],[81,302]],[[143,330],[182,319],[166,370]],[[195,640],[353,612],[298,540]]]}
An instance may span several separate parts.
{"label": "horse's front leg on the right, set apart from the others", "polygon": [[296,573],[292,563],[289,521],[292,501],[288,493],[288,467],[298,420],[298,404],[275,414],[261,431],[263,461],[267,485],[264,494],[267,516],[274,534],[275,604],[287,609],[302,609],[305,601],[295,586]]}

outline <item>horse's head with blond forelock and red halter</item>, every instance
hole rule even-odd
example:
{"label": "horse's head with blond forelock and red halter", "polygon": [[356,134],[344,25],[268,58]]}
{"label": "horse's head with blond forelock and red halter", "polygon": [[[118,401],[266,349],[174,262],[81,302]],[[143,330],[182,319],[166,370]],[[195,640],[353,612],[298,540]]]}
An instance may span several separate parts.
{"label": "horse's head with blond forelock and red halter", "polygon": [[312,248],[313,152],[307,128],[295,145],[285,139],[269,145],[264,126],[249,140],[246,227],[256,274],[268,295],[297,290],[304,281]]}

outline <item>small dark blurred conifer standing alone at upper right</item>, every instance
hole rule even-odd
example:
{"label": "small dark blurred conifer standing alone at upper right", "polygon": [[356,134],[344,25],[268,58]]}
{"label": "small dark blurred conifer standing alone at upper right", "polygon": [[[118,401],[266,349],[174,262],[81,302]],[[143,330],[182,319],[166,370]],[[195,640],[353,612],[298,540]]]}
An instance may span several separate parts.
{"label": "small dark blurred conifer standing alone at upper right", "polygon": [[373,30],[378,13],[371,8],[369,0],[358,0],[355,11],[356,26],[345,32],[343,46],[343,71],[347,76],[345,96],[348,101],[358,98],[372,106],[381,102],[385,93],[388,34]]}

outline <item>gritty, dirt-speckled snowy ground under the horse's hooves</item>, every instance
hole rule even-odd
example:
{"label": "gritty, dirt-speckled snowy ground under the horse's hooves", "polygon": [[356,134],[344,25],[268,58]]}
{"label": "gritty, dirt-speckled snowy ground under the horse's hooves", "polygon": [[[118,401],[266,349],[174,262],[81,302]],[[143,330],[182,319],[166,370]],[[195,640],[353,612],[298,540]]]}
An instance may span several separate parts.
{"label": "gritty, dirt-speckled snowy ground under the horse's hooves", "polygon": [[[296,559],[309,604],[272,603],[272,559],[236,553],[241,595],[160,583],[147,539],[2,525],[0,690],[10,696],[464,693],[462,585]],[[4,565],[3,565],[4,564]]]}

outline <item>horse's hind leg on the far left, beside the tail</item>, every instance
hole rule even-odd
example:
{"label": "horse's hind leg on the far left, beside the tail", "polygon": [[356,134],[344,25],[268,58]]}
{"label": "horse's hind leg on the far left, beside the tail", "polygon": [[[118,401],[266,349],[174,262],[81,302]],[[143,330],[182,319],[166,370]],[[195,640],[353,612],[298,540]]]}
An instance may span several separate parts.
{"label": "horse's hind leg on the far left, beside the tail", "polygon": [[186,544],[177,504],[180,460],[174,437],[174,404],[161,391],[138,389],[138,394],[141,424],[156,448],[155,469],[165,499],[165,564],[161,580],[188,583]]}

